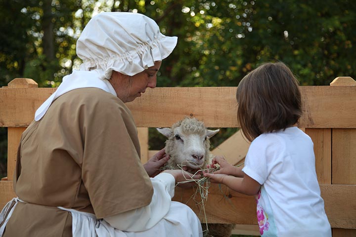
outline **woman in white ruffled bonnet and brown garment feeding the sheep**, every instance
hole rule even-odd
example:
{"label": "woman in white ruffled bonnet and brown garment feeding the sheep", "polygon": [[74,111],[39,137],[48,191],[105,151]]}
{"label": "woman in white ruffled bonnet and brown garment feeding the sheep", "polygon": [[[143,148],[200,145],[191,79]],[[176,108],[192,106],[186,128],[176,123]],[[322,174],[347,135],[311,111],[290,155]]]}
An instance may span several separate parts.
{"label": "woman in white ruffled bonnet and brown garment feeding the sheep", "polygon": [[107,12],[89,21],[77,41],[80,70],[63,78],[22,134],[18,198],[1,212],[0,235],[202,236],[193,211],[171,201],[176,182],[198,175],[158,174],[169,159],[163,150],[142,166],[124,104],[155,88],[176,44],[141,14]]}

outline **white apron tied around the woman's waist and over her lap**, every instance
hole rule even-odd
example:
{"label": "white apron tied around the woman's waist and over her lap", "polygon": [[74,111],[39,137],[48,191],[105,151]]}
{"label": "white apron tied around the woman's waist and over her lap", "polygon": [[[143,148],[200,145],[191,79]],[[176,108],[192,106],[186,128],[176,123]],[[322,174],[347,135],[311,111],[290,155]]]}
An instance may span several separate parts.
{"label": "white apron tied around the woman's waist and over her lap", "polygon": [[[0,237],[13,210],[20,200],[14,197],[7,202],[0,213]],[[72,214],[73,237],[203,237],[201,225],[196,215],[188,206],[172,201],[170,211],[154,227],[142,232],[124,232],[110,226],[103,219],[96,219],[94,214],[58,207]],[[188,228],[190,227],[190,228]]]}

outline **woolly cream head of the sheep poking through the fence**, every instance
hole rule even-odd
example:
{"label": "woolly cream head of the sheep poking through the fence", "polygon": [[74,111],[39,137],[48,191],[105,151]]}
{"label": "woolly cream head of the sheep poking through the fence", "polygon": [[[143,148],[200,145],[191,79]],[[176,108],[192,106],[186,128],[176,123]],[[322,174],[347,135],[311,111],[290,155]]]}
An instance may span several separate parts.
{"label": "woolly cream head of the sheep poking through the fence", "polygon": [[169,163],[187,165],[193,169],[205,168],[210,162],[209,138],[219,132],[219,129],[207,129],[196,118],[184,118],[171,128],[157,130],[168,138],[166,153],[171,156]]}

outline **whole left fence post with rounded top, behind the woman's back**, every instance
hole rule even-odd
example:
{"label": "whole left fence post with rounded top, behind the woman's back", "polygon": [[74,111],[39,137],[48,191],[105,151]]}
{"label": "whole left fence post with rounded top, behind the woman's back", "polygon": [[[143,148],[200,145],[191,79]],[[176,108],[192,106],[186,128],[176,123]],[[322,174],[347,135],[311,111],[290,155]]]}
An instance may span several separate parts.
{"label": "whole left fence post with rounded top, behind the woman's back", "polygon": [[[33,79],[15,78],[7,84],[7,88],[31,88],[38,87]],[[8,127],[7,128],[7,178],[1,180],[13,180],[13,174],[16,166],[17,148],[21,139],[21,134],[26,127]]]}

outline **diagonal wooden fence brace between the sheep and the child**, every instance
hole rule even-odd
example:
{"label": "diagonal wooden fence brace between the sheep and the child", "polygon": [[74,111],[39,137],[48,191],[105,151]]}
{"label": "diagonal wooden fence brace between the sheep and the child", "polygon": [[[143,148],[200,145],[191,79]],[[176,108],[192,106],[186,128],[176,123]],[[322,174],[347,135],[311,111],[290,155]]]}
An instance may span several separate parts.
{"label": "diagonal wooden fence brace between the sheep and the child", "polygon": [[212,153],[215,156],[223,156],[227,162],[236,165],[246,157],[249,147],[250,142],[239,130],[215,148]]}

